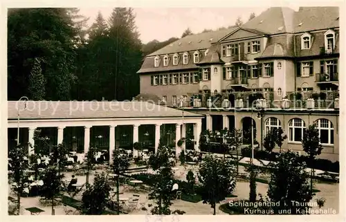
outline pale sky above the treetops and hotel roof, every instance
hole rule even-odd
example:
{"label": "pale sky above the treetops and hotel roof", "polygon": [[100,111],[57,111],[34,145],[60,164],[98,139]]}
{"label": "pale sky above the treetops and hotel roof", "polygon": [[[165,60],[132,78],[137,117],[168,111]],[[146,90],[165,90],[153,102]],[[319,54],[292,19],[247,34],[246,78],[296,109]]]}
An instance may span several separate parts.
{"label": "pale sky above the treetops and hotel roof", "polygon": [[[80,14],[90,17],[89,26],[100,11],[108,19],[113,8],[80,8]],[[216,30],[222,26],[233,26],[237,17],[248,21],[251,12],[260,15],[267,8],[134,8],[136,26],[144,44],[154,39],[165,41],[181,37],[187,28],[192,33],[201,33],[205,28]],[[295,9],[295,8],[293,8]]]}

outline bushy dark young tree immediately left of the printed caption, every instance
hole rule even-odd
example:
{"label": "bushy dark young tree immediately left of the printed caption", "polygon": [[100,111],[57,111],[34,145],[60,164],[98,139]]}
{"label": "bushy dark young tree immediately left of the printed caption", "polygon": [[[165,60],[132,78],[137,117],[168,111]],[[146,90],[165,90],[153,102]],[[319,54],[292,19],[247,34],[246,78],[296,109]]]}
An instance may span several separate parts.
{"label": "bushy dark young tree immediately left of the printed caption", "polygon": [[223,201],[235,189],[234,168],[230,161],[206,156],[199,168],[203,203],[209,203],[216,214],[216,204]]}

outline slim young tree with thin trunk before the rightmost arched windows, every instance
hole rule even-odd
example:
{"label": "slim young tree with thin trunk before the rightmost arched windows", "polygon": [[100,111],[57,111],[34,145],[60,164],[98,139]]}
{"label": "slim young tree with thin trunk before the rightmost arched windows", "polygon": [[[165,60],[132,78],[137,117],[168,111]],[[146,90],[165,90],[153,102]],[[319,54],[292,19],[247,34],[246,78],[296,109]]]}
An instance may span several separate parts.
{"label": "slim young tree with thin trunk before the rightmost arched windows", "polygon": [[316,124],[309,125],[309,127],[304,131],[303,137],[302,137],[302,148],[305,153],[309,156],[309,159],[311,161],[311,192],[312,192],[312,186],[313,186],[313,176],[315,174],[315,169],[313,167],[313,161],[315,160],[316,156],[321,154],[321,151],[323,149],[322,145],[320,144],[320,132],[317,129]]}

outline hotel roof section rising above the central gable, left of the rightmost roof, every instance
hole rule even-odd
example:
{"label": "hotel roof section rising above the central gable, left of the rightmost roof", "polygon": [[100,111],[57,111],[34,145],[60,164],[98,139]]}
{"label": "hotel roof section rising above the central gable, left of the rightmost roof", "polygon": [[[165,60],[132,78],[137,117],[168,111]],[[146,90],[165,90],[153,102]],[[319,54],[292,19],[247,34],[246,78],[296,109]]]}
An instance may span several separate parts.
{"label": "hotel roof section rising above the central gable, left of the rightmost roof", "polygon": [[242,25],[242,28],[252,28],[263,33],[279,34],[293,32],[293,16],[291,8],[272,7],[257,17]]}

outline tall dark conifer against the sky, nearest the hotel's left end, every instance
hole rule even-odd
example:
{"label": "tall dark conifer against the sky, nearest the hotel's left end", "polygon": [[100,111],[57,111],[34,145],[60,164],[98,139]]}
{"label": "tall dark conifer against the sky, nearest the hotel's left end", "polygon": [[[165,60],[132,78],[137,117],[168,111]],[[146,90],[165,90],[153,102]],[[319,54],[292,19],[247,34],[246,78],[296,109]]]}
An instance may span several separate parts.
{"label": "tall dark conifer against the sky, nearest the hotel's left end", "polygon": [[110,87],[105,95],[113,95],[112,98],[116,100],[129,100],[139,93],[139,76],[136,72],[142,62],[142,43],[136,28],[133,9],[114,8],[108,23],[111,39],[109,50],[113,52],[112,59],[115,61],[112,61],[113,68],[109,72],[107,82],[113,88]]}

